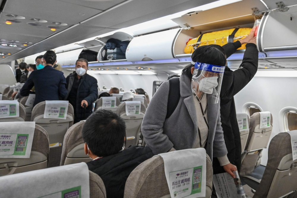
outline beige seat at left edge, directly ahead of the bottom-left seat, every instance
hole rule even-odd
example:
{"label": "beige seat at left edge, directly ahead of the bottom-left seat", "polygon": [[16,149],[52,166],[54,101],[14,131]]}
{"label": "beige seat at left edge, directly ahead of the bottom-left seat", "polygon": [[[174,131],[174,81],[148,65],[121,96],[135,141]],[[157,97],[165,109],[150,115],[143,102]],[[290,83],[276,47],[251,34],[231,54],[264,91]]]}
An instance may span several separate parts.
{"label": "beige seat at left edge, directly ahead of the bottom-left seat", "polygon": [[49,153],[48,134],[35,124],[30,158],[0,158],[0,176],[45,169],[48,167]]}

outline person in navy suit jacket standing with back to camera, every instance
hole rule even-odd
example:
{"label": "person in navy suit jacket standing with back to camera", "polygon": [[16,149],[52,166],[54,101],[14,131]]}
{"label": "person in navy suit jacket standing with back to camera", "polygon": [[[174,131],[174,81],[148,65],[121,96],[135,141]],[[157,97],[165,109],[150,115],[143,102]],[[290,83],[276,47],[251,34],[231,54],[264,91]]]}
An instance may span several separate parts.
{"label": "person in navy suit jacket standing with back to camera", "polygon": [[56,53],[47,51],[43,55],[43,65],[40,70],[33,71],[22,89],[21,96],[28,96],[32,87],[35,87],[35,101],[33,107],[45,100],[64,100],[67,95],[66,78],[63,72],[55,70]]}

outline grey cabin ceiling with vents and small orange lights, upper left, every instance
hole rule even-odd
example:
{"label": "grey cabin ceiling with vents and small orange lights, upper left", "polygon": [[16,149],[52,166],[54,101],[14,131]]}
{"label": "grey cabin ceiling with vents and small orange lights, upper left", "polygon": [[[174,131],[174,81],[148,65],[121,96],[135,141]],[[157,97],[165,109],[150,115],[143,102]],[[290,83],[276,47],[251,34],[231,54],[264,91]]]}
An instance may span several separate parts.
{"label": "grey cabin ceiling with vents and small orange lights, upper left", "polygon": [[0,63],[214,1],[0,0]]}

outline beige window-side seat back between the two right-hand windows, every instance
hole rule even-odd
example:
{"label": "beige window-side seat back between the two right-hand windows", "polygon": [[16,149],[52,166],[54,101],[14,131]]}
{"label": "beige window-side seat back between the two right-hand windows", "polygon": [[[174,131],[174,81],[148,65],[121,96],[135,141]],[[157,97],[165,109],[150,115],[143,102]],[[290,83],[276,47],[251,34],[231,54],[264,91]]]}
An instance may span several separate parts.
{"label": "beige window-side seat back between the two right-hand windows", "polygon": [[252,114],[249,119],[249,136],[244,153],[241,155],[240,176],[251,174],[255,167],[260,165],[259,158],[261,157],[261,152],[268,145],[272,131],[273,118],[270,114],[270,126],[268,128],[260,128],[260,113],[262,112]]}

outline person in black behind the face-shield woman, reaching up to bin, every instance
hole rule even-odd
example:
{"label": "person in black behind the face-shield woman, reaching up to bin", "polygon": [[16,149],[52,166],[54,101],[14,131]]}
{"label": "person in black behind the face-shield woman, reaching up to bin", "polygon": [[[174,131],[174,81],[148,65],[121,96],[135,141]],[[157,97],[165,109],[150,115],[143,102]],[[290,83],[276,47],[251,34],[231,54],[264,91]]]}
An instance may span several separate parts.
{"label": "person in black behind the face-shield woman, reaching up to bin", "polygon": [[[223,45],[221,49],[226,57],[231,56],[242,44],[247,43],[242,63],[238,70],[232,71],[225,68],[220,92],[221,122],[224,131],[225,144],[228,150],[227,157],[231,164],[241,168],[241,140],[238,128],[236,110],[233,96],[243,89],[255,76],[258,69],[258,50],[256,45],[255,30],[252,29],[249,36]],[[217,158],[213,159],[214,174],[225,172],[219,165]]]}

